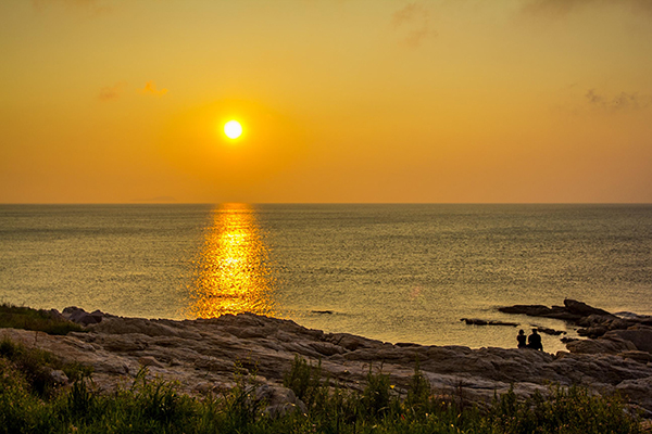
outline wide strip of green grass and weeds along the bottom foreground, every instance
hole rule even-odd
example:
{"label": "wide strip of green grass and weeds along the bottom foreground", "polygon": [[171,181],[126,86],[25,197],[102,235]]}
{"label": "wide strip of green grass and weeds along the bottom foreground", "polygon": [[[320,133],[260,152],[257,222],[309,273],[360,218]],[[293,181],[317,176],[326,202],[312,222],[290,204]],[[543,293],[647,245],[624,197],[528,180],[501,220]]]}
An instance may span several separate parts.
{"label": "wide strip of green grass and weeds along the bottom foreground", "polygon": [[[142,370],[130,387],[101,394],[77,370],[72,386],[46,392],[35,366],[51,369],[46,353],[3,341],[0,357],[0,433],[640,433],[617,397],[593,397],[579,387],[553,388],[518,401],[509,393],[486,409],[462,396],[438,395],[415,370],[403,395],[390,376],[369,368],[360,392],[323,378],[321,365],[297,357],[285,384],[306,405],[305,413],[277,418],[264,413],[255,386],[236,375],[225,395],[195,398],[175,384],[147,379]],[[23,360],[32,361],[24,362]],[[36,369],[38,370],[38,369]]]}

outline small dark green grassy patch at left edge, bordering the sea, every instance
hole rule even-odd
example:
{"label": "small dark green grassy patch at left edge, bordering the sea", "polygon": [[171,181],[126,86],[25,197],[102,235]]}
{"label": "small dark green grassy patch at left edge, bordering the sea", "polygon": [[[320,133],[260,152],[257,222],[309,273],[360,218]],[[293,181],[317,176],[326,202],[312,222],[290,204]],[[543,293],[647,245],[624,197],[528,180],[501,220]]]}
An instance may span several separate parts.
{"label": "small dark green grassy patch at left edge, bordering the sea", "polygon": [[25,329],[48,334],[85,331],[82,326],[57,317],[48,310],[13,306],[8,303],[0,305],[0,329]]}

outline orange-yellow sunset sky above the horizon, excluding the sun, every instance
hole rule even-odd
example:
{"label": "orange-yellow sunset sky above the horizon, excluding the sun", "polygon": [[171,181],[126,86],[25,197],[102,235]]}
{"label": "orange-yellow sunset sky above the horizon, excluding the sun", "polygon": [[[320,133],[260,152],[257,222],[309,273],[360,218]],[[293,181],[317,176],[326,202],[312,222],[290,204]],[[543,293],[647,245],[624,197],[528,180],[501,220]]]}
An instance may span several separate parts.
{"label": "orange-yellow sunset sky above the horizon, excluding the sun", "polygon": [[0,59],[0,203],[652,202],[649,0],[11,0]]}

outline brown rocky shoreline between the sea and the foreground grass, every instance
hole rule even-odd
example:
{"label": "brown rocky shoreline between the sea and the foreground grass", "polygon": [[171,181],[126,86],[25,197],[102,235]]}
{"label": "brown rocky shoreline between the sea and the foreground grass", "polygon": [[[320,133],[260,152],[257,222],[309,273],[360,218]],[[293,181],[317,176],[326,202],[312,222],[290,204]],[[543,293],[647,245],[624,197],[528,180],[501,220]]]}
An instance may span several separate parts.
{"label": "brown rocky shoreline between the sea and the foreground grass", "polygon": [[504,393],[511,385],[517,395],[529,396],[535,391],[546,393],[551,384],[579,384],[601,394],[619,392],[648,417],[652,414],[650,318],[620,318],[575,301],[566,301],[563,307],[512,306],[501,311],[555,315],[550,318],[584,327],[594,339],[568,342],[568,352],[552,355],[516,348],[391,344],[253,314],[174,321],[77,308],[54,315],[84,324],[88,332],[55,336],[3,329],[0,334],[54,353],[64,361],[91,366],[93,381],[102,390],[130,384],[147,366],[150,375],[177,382],[181,392],[220,393],[234,386],[238,368],[267,393],[288,397],[283,376],[299,355],[313,363],[321,361],[325,374],[351,388],[362,387],[369,369],[381,369],[400,392],[418,362],[435,390],[476,403],[488,403],[496,392]]}

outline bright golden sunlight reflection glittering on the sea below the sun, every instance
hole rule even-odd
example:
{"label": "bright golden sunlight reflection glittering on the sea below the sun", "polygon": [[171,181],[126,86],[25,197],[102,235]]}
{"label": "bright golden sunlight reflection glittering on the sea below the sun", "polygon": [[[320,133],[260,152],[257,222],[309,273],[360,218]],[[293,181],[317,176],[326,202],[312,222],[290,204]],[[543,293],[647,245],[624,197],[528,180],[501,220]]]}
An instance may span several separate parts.
{"label": "bright golden sunlight reflection glittering on the sea below the sun", "polygon": [[191,317],[274,314],[268,250],[251,206],[222,204],[212,212],[195,275]]}

